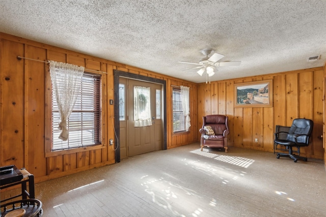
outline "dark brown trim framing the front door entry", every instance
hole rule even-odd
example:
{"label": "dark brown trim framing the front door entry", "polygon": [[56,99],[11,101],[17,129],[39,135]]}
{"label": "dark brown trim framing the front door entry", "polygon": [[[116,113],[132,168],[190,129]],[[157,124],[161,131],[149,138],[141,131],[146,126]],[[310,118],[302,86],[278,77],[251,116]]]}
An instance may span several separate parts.
{"label": "dark brown trim framing the front door entry", "polygon": [[[152,77],[147,77],[143,75],[138,75],[138,74],[133,74],[133,73],[128,73],[128,72],[123,72],[120,70],[113,70],[114,74],[114,102],[119,102],[119,78],[124,77],[124,78],[129,78],[129,79],[136,79],[140,81],[147,81],[151,83],[158,83],[163,85],[163,104],[164,104],[164,132],[163,132],[163,150],[167,149],[167,81],[166,80],[161,80],[157,78],[152,78]],[[120,138],[120,120],[119,120],[119,103],[114,104],[114,126],[116,130],[116,136],[117,138]],[[114,148],[117,149],[115,150],[115,160],[116,163],[120,162],[120,147],[118,147],[118,141],[115,139],[115,144]]]}

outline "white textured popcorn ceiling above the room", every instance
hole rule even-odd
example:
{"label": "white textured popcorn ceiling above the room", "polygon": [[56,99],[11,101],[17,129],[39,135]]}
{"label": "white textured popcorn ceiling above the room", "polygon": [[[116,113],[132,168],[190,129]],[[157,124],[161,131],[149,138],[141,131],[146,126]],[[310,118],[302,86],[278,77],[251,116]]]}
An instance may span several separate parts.
{"label": "white textured popcorn ceiling above the room", "polygon": [[200,83],[204,48],[241,61],[212,81],[323,66],[326,1],[1,0],[0,32]]}

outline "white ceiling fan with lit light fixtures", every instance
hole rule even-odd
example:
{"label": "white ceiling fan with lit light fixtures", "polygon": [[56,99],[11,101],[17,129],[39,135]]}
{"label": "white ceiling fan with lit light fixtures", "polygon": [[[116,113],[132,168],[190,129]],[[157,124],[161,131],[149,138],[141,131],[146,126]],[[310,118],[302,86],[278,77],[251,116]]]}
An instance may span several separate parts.
{"label": "white ceiling fan with lit light fixtures", "polygon": [[[241,61],[225,61],[225,62],[219,62],[220,59],[222,59],[224,57],[223,54],[220,53],[214,53],[213,55],[211,55],[210,57],[208,57],[209,54],[213,53],[214,50],[207,48],[207,49],[203,49],[200,51],[202,54],[206,55],[206,57],[202,58],[199,60],[199,63],[191,63],[191,62],[185,62],[185,61],[178,61],[178,63],[182,63],[182,64],[194,64],[194,65],[198,65],[198,67],[194,67],[191,69],[186,69],[183,71],[187,71],[187,70],[192,70],[192,69],[200,69],[197,71],[197,73],[202,76],[203,73],[206,70],[206,73],[208,75],[208,77],[211,77],[215,74],[214,72],[214,68],[216,69],[217,67],[223,67],[223,66],[239,66],[241,64]],[[206,81],[207,83],[207,81]]]}

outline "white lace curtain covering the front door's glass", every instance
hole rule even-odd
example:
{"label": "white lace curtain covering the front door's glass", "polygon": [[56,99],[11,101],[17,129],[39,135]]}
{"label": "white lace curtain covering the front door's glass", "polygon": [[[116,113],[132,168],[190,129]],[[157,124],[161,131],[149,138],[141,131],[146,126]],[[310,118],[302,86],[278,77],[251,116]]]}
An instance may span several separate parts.
{"label": "white lace curtain covering the front door's glass", "polygon": [[134,96],[134,126],[145,127],[151,126],[151,104],[150,104],[150,87],[135,86],[133,88]]}

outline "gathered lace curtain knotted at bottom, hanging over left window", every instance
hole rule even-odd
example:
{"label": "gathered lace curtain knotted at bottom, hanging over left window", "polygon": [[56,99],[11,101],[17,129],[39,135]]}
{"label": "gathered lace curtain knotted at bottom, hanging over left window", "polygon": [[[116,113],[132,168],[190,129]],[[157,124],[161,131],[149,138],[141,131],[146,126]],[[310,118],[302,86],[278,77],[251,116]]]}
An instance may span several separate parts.
{"label": "gathered lace curtain knotted at bottom, hanging over left window", "polygon": [[61,118],[58,129],[62,132],[59,139],[66,141],[69,137],[67,120],[80,91],[85,68],[52,60],[49,63],[52,89],[56,95]]}

